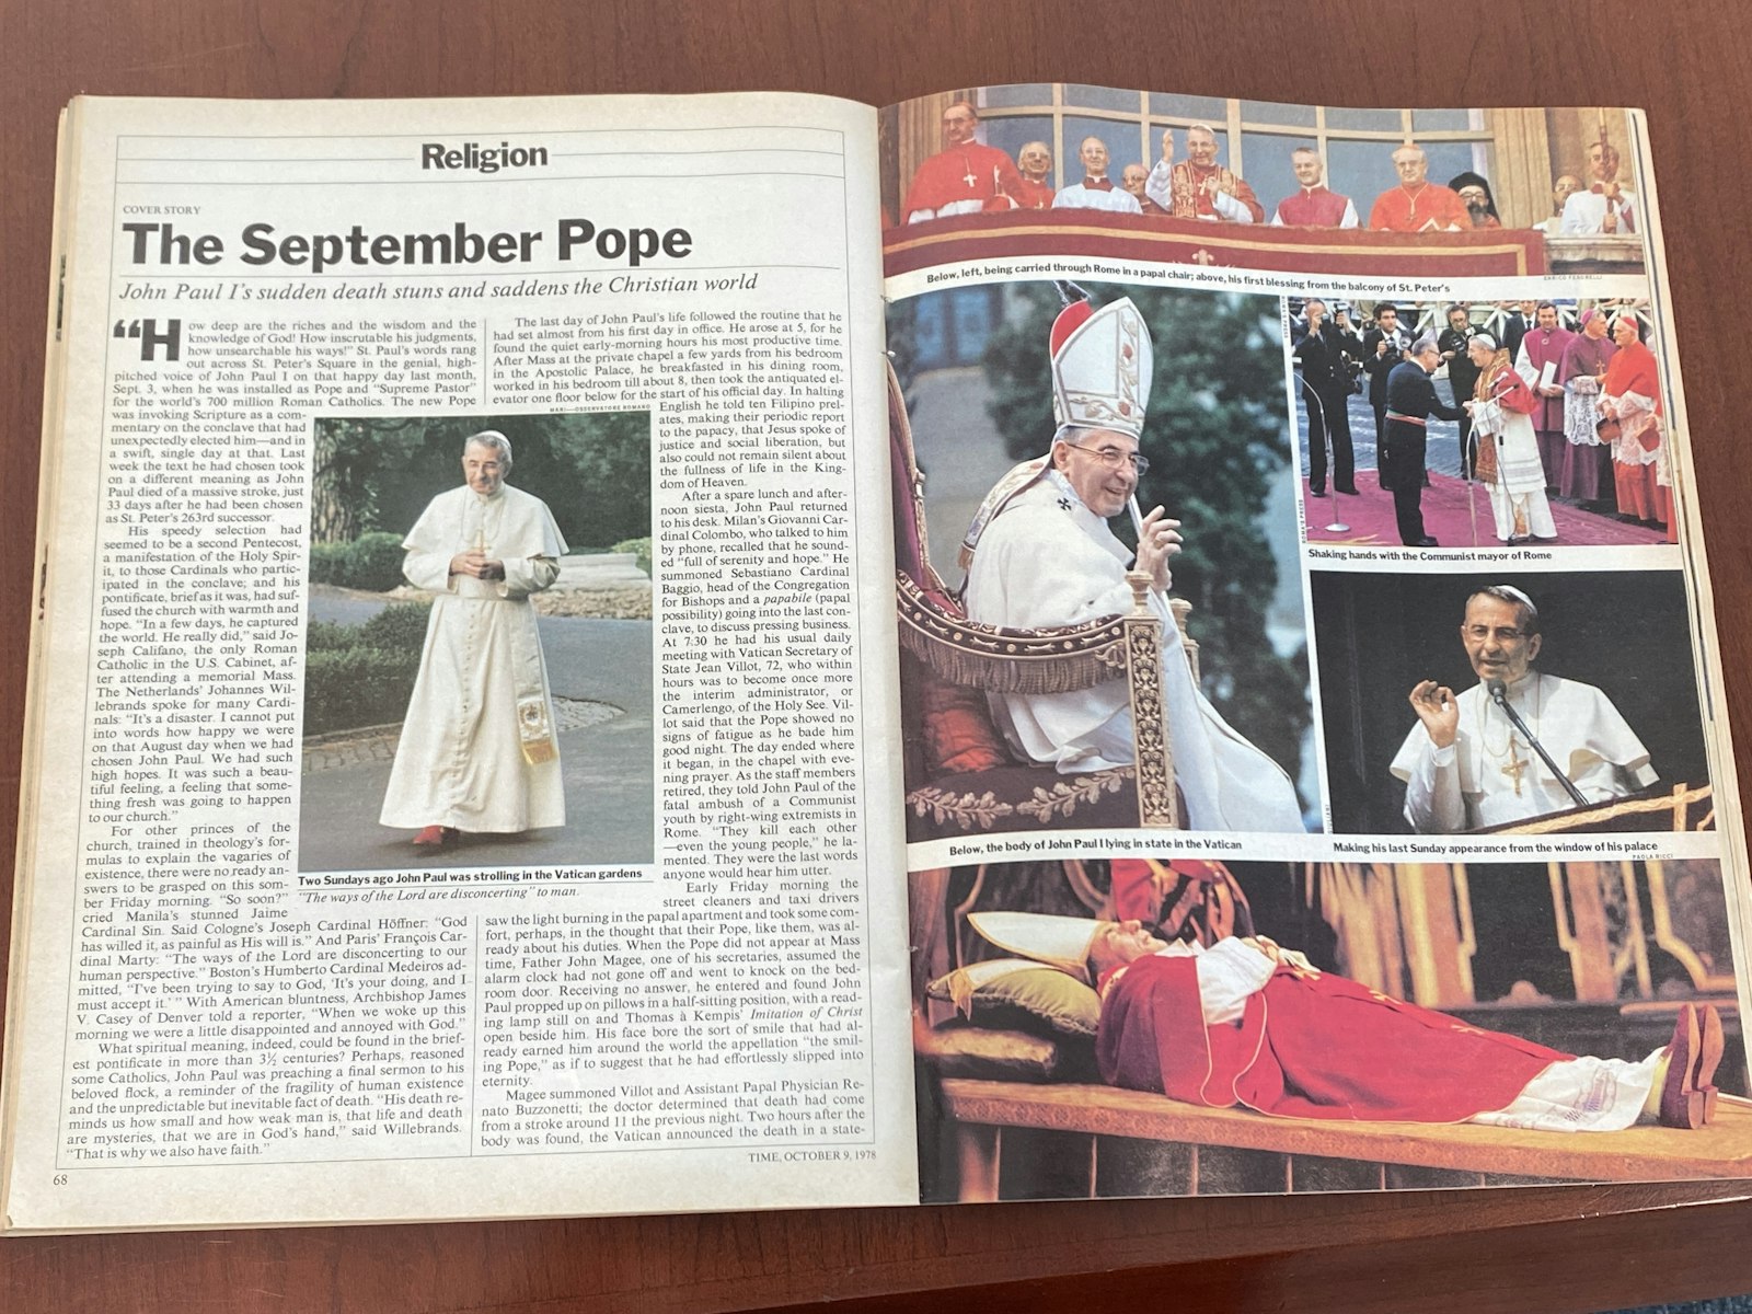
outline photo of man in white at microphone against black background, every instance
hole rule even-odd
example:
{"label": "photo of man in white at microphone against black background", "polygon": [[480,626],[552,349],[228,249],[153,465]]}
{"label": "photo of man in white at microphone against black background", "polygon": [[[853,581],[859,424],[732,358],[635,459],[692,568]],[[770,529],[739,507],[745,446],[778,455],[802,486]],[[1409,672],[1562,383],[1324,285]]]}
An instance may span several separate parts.
{"label": "photo of man in white at microphone against black background", "polygon": [[1713,827],[1677,571],[1310,587],[1335,832]]}

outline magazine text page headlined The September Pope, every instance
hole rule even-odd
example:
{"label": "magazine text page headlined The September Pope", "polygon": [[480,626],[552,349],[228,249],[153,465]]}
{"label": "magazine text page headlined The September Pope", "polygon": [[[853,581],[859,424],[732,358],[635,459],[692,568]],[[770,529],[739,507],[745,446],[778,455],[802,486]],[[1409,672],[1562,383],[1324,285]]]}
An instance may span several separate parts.
{"label": "magazine text page headlined The September Pope", "polygon": [[915,1200],[874,112],[65,135],[7,1226]]}

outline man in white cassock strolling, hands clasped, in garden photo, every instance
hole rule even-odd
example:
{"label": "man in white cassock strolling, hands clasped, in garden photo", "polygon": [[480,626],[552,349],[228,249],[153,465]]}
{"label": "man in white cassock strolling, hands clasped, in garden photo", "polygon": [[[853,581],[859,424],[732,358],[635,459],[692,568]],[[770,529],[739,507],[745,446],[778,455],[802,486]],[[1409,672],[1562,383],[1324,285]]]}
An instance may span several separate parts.
{"label": "man in white cassock strolling, hands clasped, in garden photo", "polygon": [[403,573],[434,594],[420,673],[384,795],[384,825],[438,850],[457,832],[566,823],[554,704],[529,596],[559,578],[566,540],[547,505],[508,487],[512,443],[463,447],[459,489],[403,540]]}

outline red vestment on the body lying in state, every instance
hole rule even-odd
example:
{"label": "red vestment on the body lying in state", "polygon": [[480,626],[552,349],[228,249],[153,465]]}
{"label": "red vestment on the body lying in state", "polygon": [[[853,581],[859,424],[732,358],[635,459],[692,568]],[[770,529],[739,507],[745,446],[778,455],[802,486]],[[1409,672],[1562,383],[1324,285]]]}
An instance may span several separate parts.
{"label": "red vestment on the body lying in state", "polygon": [[1107,978],[1095,1056],[1109,1084],[1186,1104],[1410,1123],[1505,1109],[1570,1058],[1291,967],[1247,997],[1240,1023],[1205,1027],[1190,957],[1139,958]]}

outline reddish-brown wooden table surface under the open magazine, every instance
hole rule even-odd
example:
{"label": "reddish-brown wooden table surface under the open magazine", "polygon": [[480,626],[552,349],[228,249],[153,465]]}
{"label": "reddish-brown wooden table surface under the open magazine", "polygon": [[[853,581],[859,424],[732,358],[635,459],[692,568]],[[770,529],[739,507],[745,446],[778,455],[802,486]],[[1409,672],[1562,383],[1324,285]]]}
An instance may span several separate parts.
{"label": "reddish-brown wooden table surface under the open magazine", "polygon": [[[54,112],[68,96],[415,96],[825,91],[887,103],[1063,79],[1260,100],[1643,105],[1663,182],[1722,662],[1752,655],[1741,237],[1752,214],[1736,91],[1738,0],[1685,5],[834,4],[790,0],[4,0],[0,357],[16,513],[0,524],[0,743],[16,797]],[[1720,298],[1720,300],[1712,300]],[[1752,745],[1752,699],[1731,704]],[[16,818],[7,816],[7,848]],[[0,908],[5,911],[5,908]],[[1747,1188],[1074,1202],[533,1221],[0,1244],[0,1309],[1598,1310],[1752,1289]],[[1715,1202],[1715,1204],[1712,1204]],[[466,1202],[459,1202],[466,1207]],[[1671,1207],[1689,1205],[1689,1207]],[[946,1289],[958,1288],[958,1289]],[[962,1289],[971,1288],[971,1289]]]}

